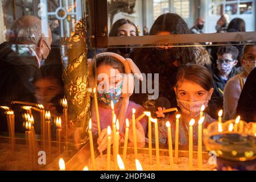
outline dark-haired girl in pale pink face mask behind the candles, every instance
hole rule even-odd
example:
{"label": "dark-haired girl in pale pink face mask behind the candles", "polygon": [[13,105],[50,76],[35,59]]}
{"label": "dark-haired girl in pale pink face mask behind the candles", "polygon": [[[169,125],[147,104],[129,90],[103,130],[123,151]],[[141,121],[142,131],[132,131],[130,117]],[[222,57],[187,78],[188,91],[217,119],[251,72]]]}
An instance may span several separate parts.
{"label": "dark-haired girl in pale pink face mask behind the candles", "polygon": [[[179,144],[188,144],[189,121],[195,119],[196,123],[193,126],[193,144],[197,144],[197,129],[200,118],[201,106],[208,108],[208,102],[213,93],[213,78],[207,68],[198,64],[186,64],[181,67],[176,76],[175,93],[177,98],[177,105],[179,106]],[[175,141],[175,126],[176,114],[162,115],[159,142],[167,143],[167,128],[165,123],[171,122],[172,139]],[[158,113],[159,115],[159,113]],[[160,114],[161,115],[161,114]],[[207,113],[203,113],[205,120],[203,128],[207,127],[214,121]],[[154,132],[153,132],[154,133]]]}

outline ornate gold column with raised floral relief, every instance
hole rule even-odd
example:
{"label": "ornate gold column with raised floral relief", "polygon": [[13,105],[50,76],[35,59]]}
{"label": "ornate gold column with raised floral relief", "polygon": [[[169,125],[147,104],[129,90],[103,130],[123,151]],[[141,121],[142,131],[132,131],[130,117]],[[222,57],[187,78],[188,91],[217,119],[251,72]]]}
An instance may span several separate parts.
{"label": "ornate gold column with raised floral relief", "polygon": [[[77,3],[79,2],[79,3]],[[90,96],[88,93],[88,64],[86,47],[86,20],[83,7],[84,1],[75,1],[73,9],[81,9],[81,14],[67,15],[63,22],[63,36],[61,37],[61,59],[63,61],[63,80],[65,98],[68,101],[69,134],[75,137],[76,144],[86,142],[88,135],[88,121],[90,118]],[[81,6],[81,7],[78,7]],[[70,11],[74,11],[71,9]],[[59,15],[65,16],[64,11]],[[76,19],[77,17],[81,19]],[[70,140],[70,138],[69,138]]]}

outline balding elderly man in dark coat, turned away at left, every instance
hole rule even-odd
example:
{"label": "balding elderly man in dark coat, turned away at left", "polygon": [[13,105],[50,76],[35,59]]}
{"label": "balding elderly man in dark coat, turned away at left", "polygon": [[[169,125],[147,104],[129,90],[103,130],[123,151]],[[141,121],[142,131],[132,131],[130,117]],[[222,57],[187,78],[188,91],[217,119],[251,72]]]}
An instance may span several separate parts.
{"label": "balding elderly man in dark coat, turned away at left", "polygon": [[[0,45],[0,106],[11,106],[11,101],[36,102],[33,81],[40,77],[39,67],[52,43],[48,22],[46,26],[43,23],[35,16],[22,16],[11,27],[9,42]],[[20,107],[12,109],[15,131],[22,131]],[[6,130],[7,122],[0,110],[0,131]]]}

